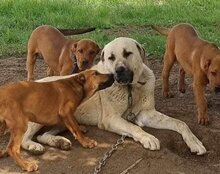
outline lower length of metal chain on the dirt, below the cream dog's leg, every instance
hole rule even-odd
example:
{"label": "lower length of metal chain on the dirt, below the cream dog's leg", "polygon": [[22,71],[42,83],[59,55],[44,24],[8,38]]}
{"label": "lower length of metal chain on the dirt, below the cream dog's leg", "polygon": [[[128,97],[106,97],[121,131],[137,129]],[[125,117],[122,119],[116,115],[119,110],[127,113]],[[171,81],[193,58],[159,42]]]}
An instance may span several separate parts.
{"label": "lower length of metal chain on the dirt, below the cream dog's leg", "polygon": [[94,174],[98,174],[101,172],[103,166],[105,166],[108,158],[112,156],[112,154],[118,149],[119,145],[122,145],[125,142],[126,135],[122,135],[116,143],[112,146],[111,150],[105,152],[104,157],[99,161],[99,164],[95,167]]}

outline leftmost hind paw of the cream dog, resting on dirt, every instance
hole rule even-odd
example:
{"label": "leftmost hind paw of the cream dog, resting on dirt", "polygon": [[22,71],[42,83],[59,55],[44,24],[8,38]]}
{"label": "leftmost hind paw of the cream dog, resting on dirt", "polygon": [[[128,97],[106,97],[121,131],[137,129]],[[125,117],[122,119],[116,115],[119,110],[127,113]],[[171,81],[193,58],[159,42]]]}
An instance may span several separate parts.
{"label": "leftmost hind paw of the cream dog, resting on dirt", "polygon": [[41,155],[45,152],[44,146],[34,141],[27,141],[22,143],[22,148],[34,155]]}

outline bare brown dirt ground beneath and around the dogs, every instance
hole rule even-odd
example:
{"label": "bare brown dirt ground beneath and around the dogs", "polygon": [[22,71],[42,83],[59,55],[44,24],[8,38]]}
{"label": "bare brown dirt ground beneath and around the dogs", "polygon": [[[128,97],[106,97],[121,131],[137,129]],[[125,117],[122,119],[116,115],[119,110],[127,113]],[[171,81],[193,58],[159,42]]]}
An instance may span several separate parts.
{"label": "bare brown dirt ground beneath and around the dogs", "polygon": [[[150,68],[156,75],[156,108],[157,110],[174,118],[185,121],[195,135],[203,142],[208,150],[204,156],[191,154],[181,136],[168,130],[145,130],[160,140],[160,151],[144,149],[140,143],[126,138],[125,143],[108,160],[101,173],[120,174],[140,158],[143,160],[136,165],[130,174],[214,174],[220,173],[220,94],[216,95],[207,88],[209,101],[209,115],[211,123],[208,126],[197,124],[195,117],[195,103],[192,93],[191,79],[187,78],[187,91],[180,94],[177,91],[177,66],[171,73],[171,89],[175,93],[172,99],[161,97],[161,69],[160,61],[150,60]],[[45,77],[46,66],[43,60],[37,61],[37,78]],[[26,79],[25,58],[8,58],[0,60],[0,84]],[[46,107],[46,106],[45,106]],[[63,135],[73,142],[70,151],[61,151],[46,147],[46,152],[40,156],[33,156],[25,151],[22,153],[29,159],[39,162],[40,170],[34,173],[42,174],[88,174],[93,173],[98,160],[104,152],[120,137],[114,133],[88,127],[87,135],[98,141],[94,149],[84,149],[73,140],[70,133]],[[0,137],[0,148],[4,148],[9,135]],[[0,173],[20,174],[21,169],[8,158],[0,159]]]}

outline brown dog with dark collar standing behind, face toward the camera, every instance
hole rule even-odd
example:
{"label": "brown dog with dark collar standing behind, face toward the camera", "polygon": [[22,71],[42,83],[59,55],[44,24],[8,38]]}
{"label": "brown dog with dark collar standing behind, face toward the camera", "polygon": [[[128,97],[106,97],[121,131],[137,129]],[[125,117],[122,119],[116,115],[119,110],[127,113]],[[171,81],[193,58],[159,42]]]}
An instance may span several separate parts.
{"label": "brown dog with dark collar standing behind, face toward the camera", "polygon": [[[69,34],[65,30],[60,31]],[[32,32],[27,46],[28,81],[34,79],[34,65],[38,54],[42,55],[49,67],[48,76],[54,73],[69,75],[93,65],[100,51],[99,46],[89,39],[79,41],[66,39],[60,31],[52,26],[43,25]]]}

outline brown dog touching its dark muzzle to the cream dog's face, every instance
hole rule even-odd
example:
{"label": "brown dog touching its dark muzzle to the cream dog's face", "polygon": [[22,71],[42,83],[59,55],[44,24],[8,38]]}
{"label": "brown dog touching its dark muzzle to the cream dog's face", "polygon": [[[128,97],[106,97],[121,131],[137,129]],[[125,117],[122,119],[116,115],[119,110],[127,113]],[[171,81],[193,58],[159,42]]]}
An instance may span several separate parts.
{"label": "brown dog touching its dark muzzle to the cream dog's face", "polygon": [[38,169],[34,162],[24,160],[20,155],[28,121],[44,125],[62,123],[83,147],[96,146],[96,141],[81,133],[73,113],[82,101],[109,87],[113,81],[110,74],[87,70],[53,82],[21,81],[0,87],[0,121],[6,123],[11,133],[7,150],[0,151],[0,157],[9,154],[23,170]]}

